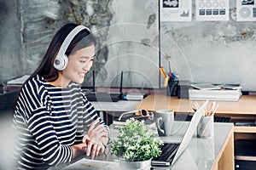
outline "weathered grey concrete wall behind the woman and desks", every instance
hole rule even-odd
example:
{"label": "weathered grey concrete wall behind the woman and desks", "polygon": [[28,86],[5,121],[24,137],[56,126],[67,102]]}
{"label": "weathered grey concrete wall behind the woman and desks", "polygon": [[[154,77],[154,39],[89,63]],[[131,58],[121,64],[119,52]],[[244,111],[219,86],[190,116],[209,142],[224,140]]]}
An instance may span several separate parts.
{"label": "weathered grey concrete wall behind the woman and desks", "polygon": [[[159,82],[158,2],[0,0],[0,82],[31,74],[50,39],[64,23],[82,23],[99,37],[92,70],[96,86],[162,88]],[[191,82],[241,83],[256,90],[256,24],[236,21],[230,0],[230,20],[160,23],[160,65]],[[195,0],[193,0],[195,14]],[[92,85],[91,72],[84,86]]]}

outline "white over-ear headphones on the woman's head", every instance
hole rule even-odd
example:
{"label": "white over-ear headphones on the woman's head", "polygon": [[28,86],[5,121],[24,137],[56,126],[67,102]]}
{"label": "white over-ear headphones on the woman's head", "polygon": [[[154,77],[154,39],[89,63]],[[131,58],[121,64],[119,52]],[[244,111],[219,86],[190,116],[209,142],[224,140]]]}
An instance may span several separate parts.
{"label": "white over-ear headphones on the woman's head", "polygon": [[69,32],[64,42],[61,44],[61,48],[58,54],[56,55],[54,62],[55,69],[57,69],[58,71],[63,71],[67,67],[68,59],[67,55],[65,54],[66,50],[70,42],[72,42],[73,37],[75,37],[79,33],[79,31],[82,31],[84,29],[90,31],[90,29],[85,26],[76,26],[72,31]]}

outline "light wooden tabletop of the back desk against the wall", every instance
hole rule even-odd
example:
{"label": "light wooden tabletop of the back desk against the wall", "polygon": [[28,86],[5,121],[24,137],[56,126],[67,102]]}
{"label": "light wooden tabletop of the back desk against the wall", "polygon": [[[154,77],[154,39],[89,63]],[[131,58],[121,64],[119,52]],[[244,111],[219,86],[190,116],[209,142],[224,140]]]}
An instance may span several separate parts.
{"label": "light wooden tabletop of the back desk against the wall", "polygon": [[[177,99],[177,97],[166,96],[166,94],[150,94],[142,102],[136,105],[137,109],[155,111],[158,109],[170,109],[177,112],[191,112],[194,100]],[[197,101],[201,104],[203,101]],[[217,101],[219,106],[216,113],[220,114],[256,114],[256,96],[241,96],[238,101]],[[208,106],[211,106],[212,101]]]}

